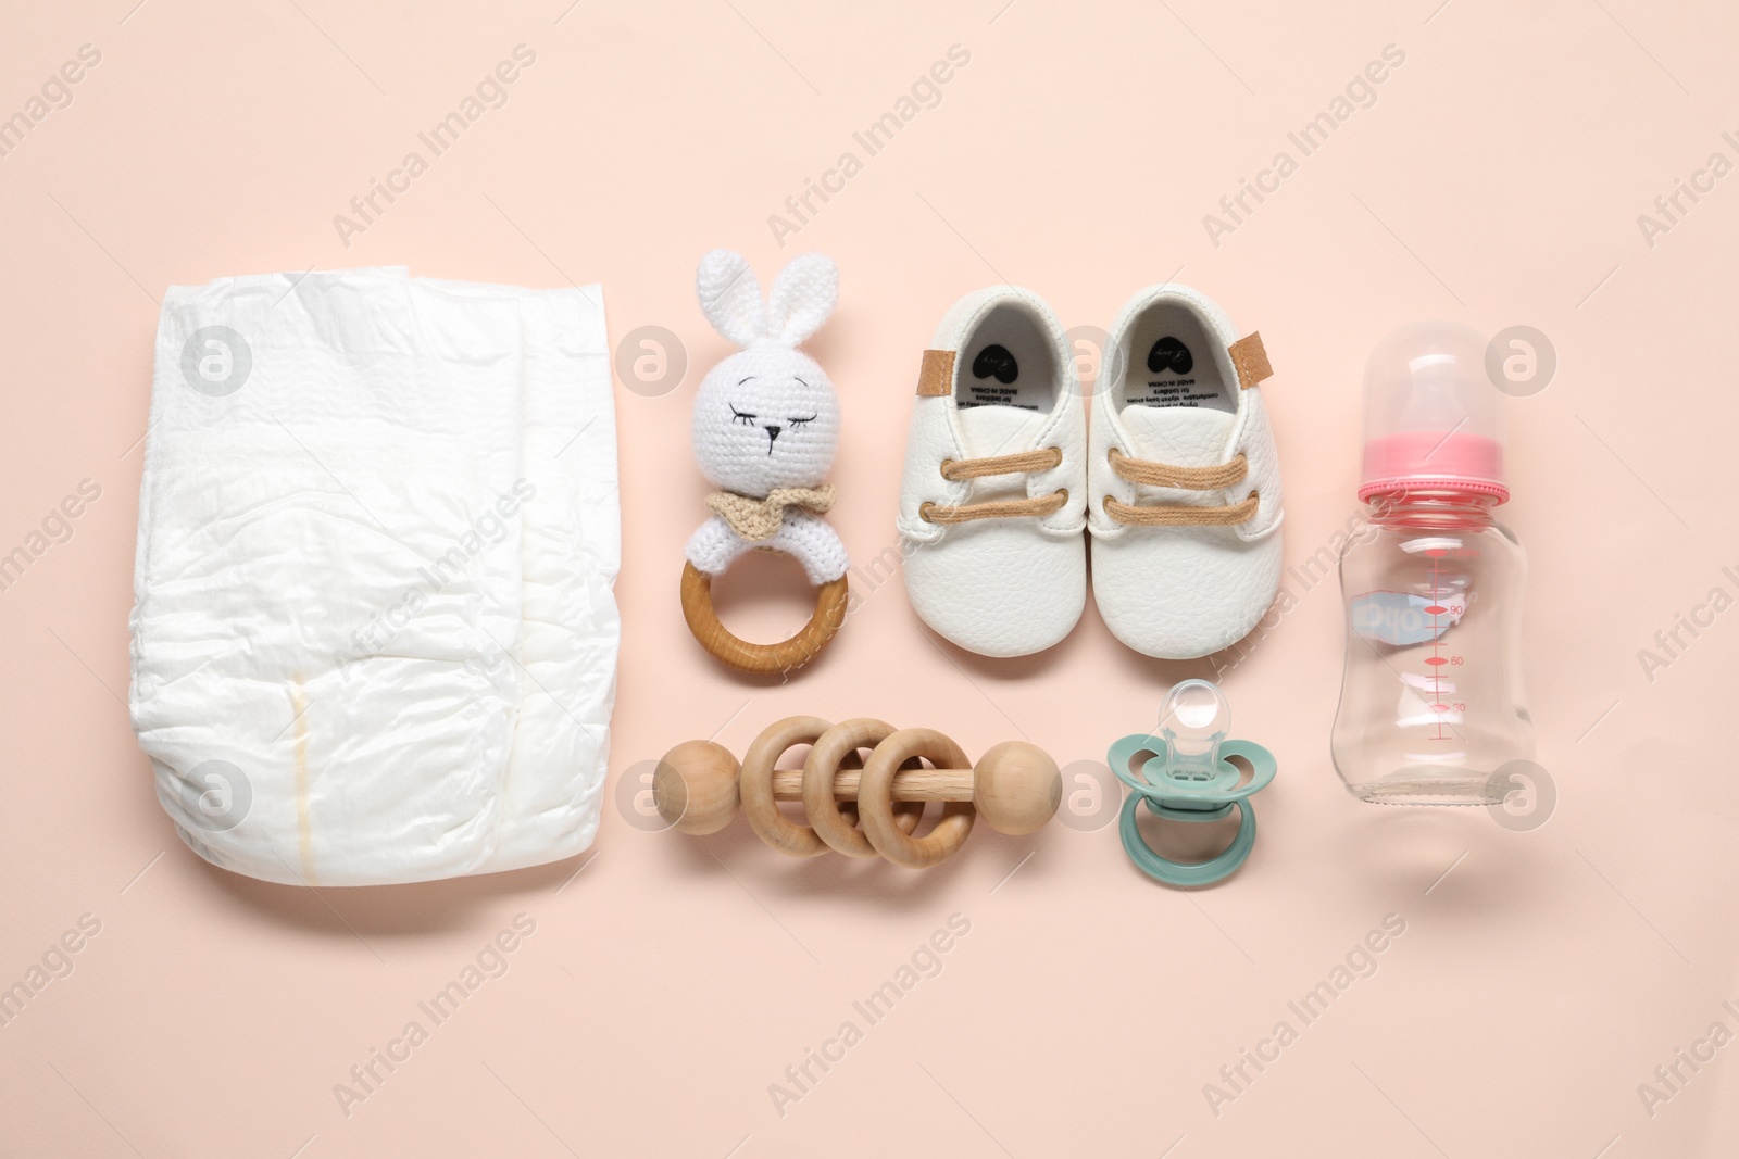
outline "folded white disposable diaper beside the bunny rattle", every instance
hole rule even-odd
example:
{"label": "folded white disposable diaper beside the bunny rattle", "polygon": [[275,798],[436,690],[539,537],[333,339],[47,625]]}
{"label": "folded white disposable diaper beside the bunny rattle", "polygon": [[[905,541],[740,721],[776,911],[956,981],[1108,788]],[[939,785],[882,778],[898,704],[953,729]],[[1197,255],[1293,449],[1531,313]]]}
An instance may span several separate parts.
{"label": "folded white disposable diaper beside the bunny rattle", "polygon": [[315,886],[584,850],[619,540],[596,287],[170,288],[130,707],[183,841]]}

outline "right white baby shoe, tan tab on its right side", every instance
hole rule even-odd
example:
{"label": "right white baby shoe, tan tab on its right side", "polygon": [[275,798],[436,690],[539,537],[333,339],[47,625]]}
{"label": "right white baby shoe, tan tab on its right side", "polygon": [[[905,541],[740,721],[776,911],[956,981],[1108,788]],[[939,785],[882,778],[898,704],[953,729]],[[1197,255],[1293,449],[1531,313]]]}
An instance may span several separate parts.
{"label": "right white baby shoe, tan tab on its right side", "polygon": [[1280,587],[1280,462],[1259,335],[1183,285],[1139,292],[1099,360],[1087,464],[1092,587],[1111,632],[1167,660],[1243,639]]}

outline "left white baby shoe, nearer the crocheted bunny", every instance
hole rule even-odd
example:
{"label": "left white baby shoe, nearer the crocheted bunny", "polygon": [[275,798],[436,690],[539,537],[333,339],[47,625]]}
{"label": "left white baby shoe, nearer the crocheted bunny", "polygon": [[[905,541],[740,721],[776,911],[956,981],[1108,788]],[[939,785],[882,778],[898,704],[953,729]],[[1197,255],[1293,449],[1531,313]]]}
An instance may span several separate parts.
{"label": "left white baby shoe, nearer the crocheted bunny", "polygon": [[1017,657],[1080,620],[1085,426],[1043,299],[998,285],[943,316],[918,374],[897,520],[906,594],[937,634]]}

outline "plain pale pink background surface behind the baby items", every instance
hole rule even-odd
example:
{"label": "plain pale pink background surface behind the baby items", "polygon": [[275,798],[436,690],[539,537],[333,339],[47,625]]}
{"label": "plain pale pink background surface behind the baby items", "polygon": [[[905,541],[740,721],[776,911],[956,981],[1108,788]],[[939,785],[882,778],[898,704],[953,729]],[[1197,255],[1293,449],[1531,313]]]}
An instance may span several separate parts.
{"label": "plain pale pink background surface behind the baby items", "polygon": [[[101,63],[0,158],[0,553],[82,480],[101,499],[0,591],[0,987],[80,916],[101,931],[0,1027],[0,1150],[1739,1152],[1739,1046],[1682,1067],[1689,1083],[1652,1116],[1638,1095],[1676,1050],[1704,1050],[1711,1023],[1739,1030],[1722,1008],[1739,1010],[1739,789],[1722,728],[1739,612],[1652,681],[1638,660],[1716,586],[1739,594],[1722,573],[1739,570],[1739,176],[1652,245],[1636,221],[1711,153],[1739,162],[1722,139],[1739,130],[1739,16],[1438,3],[14,5],[0,115],[80,45]],[[334,214],[518,43],[537,57],[510,101],[346,248]],[[939,104],[781,248],[767,217],[956,43],[970,63]],[[1376,103],[1214,245],[1203,214],[1389,43],[1405,63]],[[812,351],[847,407],[833,521],[859,560],[892,542],[918,351],[979,285],[1029,285],[1066,325],[1103,327],[1176,273],[1261,328],[1289,565],[1355,511],[1356,387],[1383,334],[1429,316],[1542,330],[1560,365],[1511,407],[1506,520],[1532,558],[1527,676],[1555,813],[1513,832],[1341,791],[1329,582],[1296,589],[1224,676],[1235,732],[1269,745],[1280,777],[1254,857],[1219,888],[1149,883],[1115,827],[981,829],[923,874],[791,862],[741,822],[649,832],[636,784],[628,811],[614,784],[689,737],[741,752],[779,716],[873,714],[972,754],[1026,737],[1064,765],[1099,761],[1172,681],[1214,671],[1137,657],[1092,610],[1043,657],[979,660],[923,632],[897,580],[863,591],[790,686],[703,657],[676,573],[704,490],[689,400],[727,351],[692,290],[715,245],[763,281],[796,252],[840,262]],[[205,865],[155,801],[123,700],[157,299],[365,264],[600,281],[612,341],[664,327],[687,348],[678,387],[617,382],[626,645],[591,860],[292,890]],[[756,575],[776,582],[756,591]],[[762,636],[791,624],[790,575],[732,573],[727,619]],[[516,914],[536,931],[510,970],[346,1116],[334,1084]],[[864,1027],[852,1003],[951,914],[970,933],[943,971]],[[1388,914],[1405,935],[1303,1027],[1287,1003]],[[849,1018],[863,1041],[781,1116],[769,1084]],[[1216,1116],[1203,1084],[1280,1020],[1297,1041]]]}

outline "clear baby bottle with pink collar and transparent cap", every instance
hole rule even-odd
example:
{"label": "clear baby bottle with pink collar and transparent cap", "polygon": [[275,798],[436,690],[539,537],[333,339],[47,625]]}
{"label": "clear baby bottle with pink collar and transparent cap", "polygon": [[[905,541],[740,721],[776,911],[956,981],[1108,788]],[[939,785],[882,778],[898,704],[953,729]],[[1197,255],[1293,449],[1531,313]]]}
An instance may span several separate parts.
{"label": "clear baby bottle with pink collar and transparent cap", "polygon": [[1522,695],[1516,537],[1502,396],[1485,344],[1423,323],[1365,370],[1365,523],[1341,549],[1346,667],[1330,742],[1348,791],[1386,805],[1490,805],[1534,756]]}

